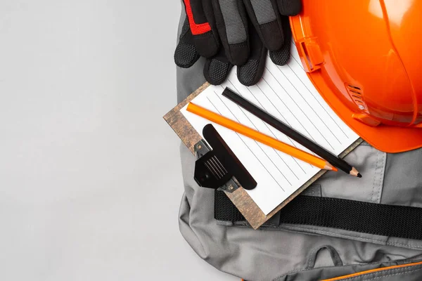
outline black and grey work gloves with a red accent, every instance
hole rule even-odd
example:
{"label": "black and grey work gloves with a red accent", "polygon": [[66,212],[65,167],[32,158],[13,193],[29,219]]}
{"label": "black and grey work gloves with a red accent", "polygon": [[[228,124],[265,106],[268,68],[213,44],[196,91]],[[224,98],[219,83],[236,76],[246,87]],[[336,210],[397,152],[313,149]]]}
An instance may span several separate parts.
{"label": "black and grey work gloves with a red accent", "polygon": [[290,58],[288,16],[297,15],[302,0],[183,0],[186,20],[174,61],[191,67],[203,56],[205,79],[222,84],[237,65],[245,86],[262,78],[269,56],[276,65]]}

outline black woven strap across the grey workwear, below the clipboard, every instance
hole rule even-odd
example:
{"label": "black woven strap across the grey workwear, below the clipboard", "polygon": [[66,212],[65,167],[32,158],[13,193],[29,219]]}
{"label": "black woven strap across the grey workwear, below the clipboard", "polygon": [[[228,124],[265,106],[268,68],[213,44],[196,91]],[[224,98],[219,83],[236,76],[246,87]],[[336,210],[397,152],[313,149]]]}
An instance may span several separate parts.
{"label": "black woven strap across the grey workwear, below the clipboard", "polygon": [[[280,212],[280,223],[422,240],[422,208],[418,207],[301,195]],[[215,193],[214,216],[219,221],[245,221],[220,191]]]}

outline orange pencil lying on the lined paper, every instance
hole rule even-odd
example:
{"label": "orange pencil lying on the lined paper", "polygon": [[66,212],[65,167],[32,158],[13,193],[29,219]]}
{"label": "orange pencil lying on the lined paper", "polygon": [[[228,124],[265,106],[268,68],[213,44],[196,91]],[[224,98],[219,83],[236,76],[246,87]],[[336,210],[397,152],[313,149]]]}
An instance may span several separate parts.
{"label": "orange pencil lying on the lined paper", "polygon": [[330,163],[326,162],[326,160],[316,157],[308,152],[295,148],[291,145],[283,143],[276,138],[271,138],[271,136],[267,136],[264,133],[260,133],[254,129],[250,129],[247,126],[239,124],[238,122],[234,122],[233,120],[226,118],[222,115],[218,115],[215,112],[207,110],[204,107],[196,105],[194,103],[189,103],[187,109],[188,112],[192,112],[200,117],[210,120],[216,124],[226,127],[227,129],[231,129],[236,131],[237,133],[241,133],[243,136],[247,136],[248,138],[252,138],[255,141],[259,141],[260,143],[264,143],[264,145],[268,145],[271,148],[284,152],[288,155],[291,155],[295,158],[298,158],[304,162],[307,162],[313,166],[316,166],[320,169],[331,170],[331,171],[338,171]]}

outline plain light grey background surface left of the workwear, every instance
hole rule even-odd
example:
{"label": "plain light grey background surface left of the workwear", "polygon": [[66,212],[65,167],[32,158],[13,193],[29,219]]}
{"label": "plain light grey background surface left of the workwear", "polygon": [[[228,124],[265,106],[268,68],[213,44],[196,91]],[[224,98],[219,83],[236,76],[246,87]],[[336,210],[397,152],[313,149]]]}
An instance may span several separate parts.
{"label": "plain light grey background surface left of the workwear", "polygon": [[179,233],[179,12],[0,1],[0,280],[238,280]]}

